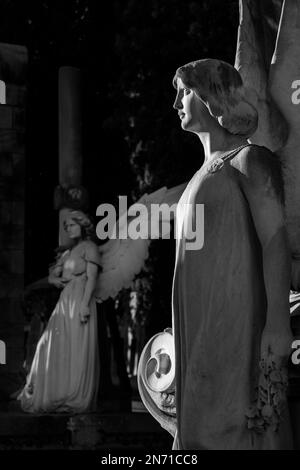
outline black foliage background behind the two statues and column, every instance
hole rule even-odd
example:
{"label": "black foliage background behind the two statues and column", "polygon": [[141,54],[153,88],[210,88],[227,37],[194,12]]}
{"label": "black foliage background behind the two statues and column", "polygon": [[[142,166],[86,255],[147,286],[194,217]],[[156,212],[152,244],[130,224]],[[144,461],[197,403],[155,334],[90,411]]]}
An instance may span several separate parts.
{"label": "black foliage background behind the two statues and column", "polygon": [[[172,109],[172,77],[198,58],[233,63],[237,26],[238,0],[1,0],[0,42],[29,53],[27,283],[47,274],[57,244],[59,67],[83,73],[83,184],[95,214],[102,202],[179,184],[200,166],[201,146]],[[153,243],[149,335],[170,325],[173,265],[174,243]]]}

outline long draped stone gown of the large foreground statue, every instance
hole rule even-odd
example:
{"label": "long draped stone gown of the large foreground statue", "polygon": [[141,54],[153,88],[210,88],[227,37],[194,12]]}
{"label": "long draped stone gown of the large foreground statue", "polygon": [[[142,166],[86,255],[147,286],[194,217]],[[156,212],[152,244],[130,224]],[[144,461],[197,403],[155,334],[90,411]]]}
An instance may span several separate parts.
{"label": "long draped stone gown of the large foreground statue", "polygon": [[[231,162],[214,173],[204,164],[177,208],[174,448],[290,448],[288,419],[278,434],[247,429],[267,299],[261,245]],[[185,249],[183,226],[196,204],[204,204],[204,246],[192,251]]]}

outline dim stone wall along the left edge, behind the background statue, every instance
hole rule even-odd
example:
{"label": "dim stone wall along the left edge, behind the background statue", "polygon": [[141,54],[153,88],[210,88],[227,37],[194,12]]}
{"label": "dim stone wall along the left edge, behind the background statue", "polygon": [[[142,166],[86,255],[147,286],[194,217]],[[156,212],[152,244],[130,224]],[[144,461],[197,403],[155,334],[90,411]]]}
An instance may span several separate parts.
{"label": "dim stone wall along the left edge, behind the background statue", "polygon": [[26,48],[0,44],[0,80],[6,95],[3,99],[1,94],[0,104],[0,340],[6,344],[0,401],[22,381],[26,72]]}

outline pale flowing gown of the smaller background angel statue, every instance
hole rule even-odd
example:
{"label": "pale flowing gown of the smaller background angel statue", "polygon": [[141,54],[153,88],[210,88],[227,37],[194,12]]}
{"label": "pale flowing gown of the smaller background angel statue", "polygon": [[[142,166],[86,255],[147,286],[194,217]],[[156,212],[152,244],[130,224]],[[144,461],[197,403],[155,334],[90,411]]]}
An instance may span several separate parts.
{"label": "pale flowing gown of the smaller background angel statue", "polygon": [[63,277],[68,279],[41,336],[19,395],[29,412],[82,412],[93,406],[98,391],[99,356],[94,298],[90,319],[80,322],[80,304],[87,281],[87,262],[100,266],[99,251],[82,241],[61,258]]}

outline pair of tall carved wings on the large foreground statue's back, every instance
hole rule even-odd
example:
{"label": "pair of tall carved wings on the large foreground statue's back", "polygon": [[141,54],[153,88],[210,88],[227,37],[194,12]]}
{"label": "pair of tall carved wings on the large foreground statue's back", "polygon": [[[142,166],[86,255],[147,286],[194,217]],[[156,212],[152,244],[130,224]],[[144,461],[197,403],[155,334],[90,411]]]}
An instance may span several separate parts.
{"label": "pair of tall carved wings on the large foreground statue's back", "polygon": [[283,163],[293,286],[299,289],[300,105],[292,101],[293,83],[300,79],[299,0],[240,0],[235,67],[259,112],[250,140],[276,152]]}

